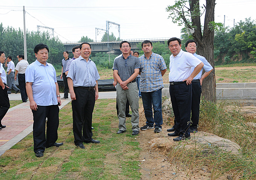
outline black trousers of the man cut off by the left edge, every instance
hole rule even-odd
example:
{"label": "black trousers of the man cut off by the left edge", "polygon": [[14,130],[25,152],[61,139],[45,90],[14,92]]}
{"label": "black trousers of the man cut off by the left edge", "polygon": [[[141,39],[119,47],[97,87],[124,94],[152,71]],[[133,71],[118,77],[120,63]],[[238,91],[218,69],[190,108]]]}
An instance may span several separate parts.
{"label": "black trousers of the man cut off by the left edge", "polygon": [[0,86],[0,125],[2,125],[2,119],[10,108],[10,102],[7,94],[8,88],[5,89]]}

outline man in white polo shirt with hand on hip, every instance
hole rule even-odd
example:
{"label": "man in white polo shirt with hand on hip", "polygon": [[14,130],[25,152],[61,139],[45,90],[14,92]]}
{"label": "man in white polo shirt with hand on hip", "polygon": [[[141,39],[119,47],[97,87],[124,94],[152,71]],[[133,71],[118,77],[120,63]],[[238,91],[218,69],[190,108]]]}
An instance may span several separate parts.
{"label": "man in white polo shirt with hand on hip", "polygon": [[[192,104],[192,80],[201,71],[204,63],[189,52],[181,49],[181,40],[173,37],[168,40],[170,56],[170,95],[172,109],[176,119],[174,133],[168,136],[178,136],[174,141],[190,139],[190,112]],[[193,69],[194,68],[194,71]]]}

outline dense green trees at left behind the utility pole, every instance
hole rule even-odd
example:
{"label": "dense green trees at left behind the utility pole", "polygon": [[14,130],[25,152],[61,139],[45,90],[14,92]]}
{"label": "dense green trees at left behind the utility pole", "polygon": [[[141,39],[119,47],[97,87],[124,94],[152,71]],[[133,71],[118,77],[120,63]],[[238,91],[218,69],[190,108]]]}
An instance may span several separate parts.
{"label": "dense green trees at left behind the utility pole", "polygon": [[[58,37],[50,37],[48,32],[27,31],[27,61],[32,63],[35,61],[34,47],[39,43],[44,43],[49,47],[49,59],[47,62],[53,65],[61,65],[63,58],[62,52],[64,45]],[[17,55],[24,54],[23,31],[7,27],[4,28],[0,24],[0,49],[5,52],[6,56],[11,55],[15,64],[18,63]]]}

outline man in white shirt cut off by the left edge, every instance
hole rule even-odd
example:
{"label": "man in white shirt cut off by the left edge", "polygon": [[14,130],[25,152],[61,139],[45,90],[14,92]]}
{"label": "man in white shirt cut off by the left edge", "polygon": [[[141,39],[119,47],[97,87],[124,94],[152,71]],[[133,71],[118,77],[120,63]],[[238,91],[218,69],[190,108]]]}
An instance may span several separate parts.
{"label": "man in white shirt cut off by the left edge", "polygon": [[6,86],[6,74],[5,69],[3,68],[3,63],[5,63],[5,53],[0,51],[0,129],[5,128],[6,126],[2,125],[2,119],[10,108],[9,98],[7,94]]}

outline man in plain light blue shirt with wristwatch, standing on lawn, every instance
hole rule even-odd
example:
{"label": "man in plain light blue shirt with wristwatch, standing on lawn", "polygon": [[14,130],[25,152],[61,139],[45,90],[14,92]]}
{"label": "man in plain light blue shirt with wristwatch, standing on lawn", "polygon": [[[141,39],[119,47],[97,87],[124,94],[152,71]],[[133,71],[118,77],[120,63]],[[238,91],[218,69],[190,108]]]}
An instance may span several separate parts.
{"label": "man in plain light blue shirt with wristwatch, standing on lawn", "polygon": [[[37,157],[42,157],[45,148],[56,146],[59,126],[59,107],[61,99],[59,86],[56,80],[56,71],[47,63],[49,48],[47,45],[38,44],[34,48],[37,60],[26,69],[26,90],[29,98],[30,109],[33,113],[33,138],[34,152]],[[47,129],[45,137],[45,122]]]}

